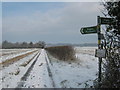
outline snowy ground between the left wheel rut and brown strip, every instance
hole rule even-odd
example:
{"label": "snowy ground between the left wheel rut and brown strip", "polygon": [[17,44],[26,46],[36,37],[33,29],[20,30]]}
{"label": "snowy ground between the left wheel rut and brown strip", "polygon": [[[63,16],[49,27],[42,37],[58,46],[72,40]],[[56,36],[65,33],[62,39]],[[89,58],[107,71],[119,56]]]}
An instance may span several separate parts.
{"label": "snowy ground between the left wheel rut and brown strip", "polygon": [[[2,72],[2,82],[0,85],[4,88],[15,88],[17,83],[20,81],[21,77],[26,73],[27,69],[30,67],[32,60],[26,67],[22,66],[27,60],[30,60],[33,56],[35,56],[38,52],[33,53],[21,60],[17,63],[10,65],[9,67],[4,67],[0,72]],[[12,82],[12,83],[11,83]]]}

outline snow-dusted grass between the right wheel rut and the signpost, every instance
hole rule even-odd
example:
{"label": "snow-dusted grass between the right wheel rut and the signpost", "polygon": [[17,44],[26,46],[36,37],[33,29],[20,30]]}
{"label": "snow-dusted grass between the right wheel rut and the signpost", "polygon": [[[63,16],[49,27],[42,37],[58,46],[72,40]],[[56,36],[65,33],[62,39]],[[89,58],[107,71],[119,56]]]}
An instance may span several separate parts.
{"label": "snow-dusted grass between the right wheel rut and the signpost", "polygon": [[97,77],[97,58],[89,54],[89,50],[93,50],[91,48],[82,48],[86,53],[78,52],[79,50],[81,47],[76,47],[77,60],[74,62],[60,61],[49,55],[56,87],[88,88],[93,85],[93,80]]}

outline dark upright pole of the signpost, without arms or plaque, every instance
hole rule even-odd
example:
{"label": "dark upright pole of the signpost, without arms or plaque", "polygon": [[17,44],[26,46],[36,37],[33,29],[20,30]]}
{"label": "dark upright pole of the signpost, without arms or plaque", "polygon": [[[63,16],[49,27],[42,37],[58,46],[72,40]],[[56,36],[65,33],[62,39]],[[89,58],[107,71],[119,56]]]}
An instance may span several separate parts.
{"label": "dark upright pole of the signpost, without arms or plaque", "polygon": [[[97,34],[98,34],[98,49],[102,49],[101,47],[101,31],[100,31],[100,16],[97,17]],[[100,87],[100,82],[101,82],[101,63],[102,63],[102,58],[101,57],[98,57],[98,60],[99,60],[99,74],[98,74],[98,83],[99,83],[99,86]]]}

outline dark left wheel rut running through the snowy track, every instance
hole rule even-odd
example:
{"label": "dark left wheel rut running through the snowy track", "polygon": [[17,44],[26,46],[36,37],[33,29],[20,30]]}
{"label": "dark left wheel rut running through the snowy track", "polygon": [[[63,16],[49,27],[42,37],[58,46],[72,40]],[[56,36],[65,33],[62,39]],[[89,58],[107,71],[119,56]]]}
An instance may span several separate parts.
{"label": "dark left wheel rut running through the snowy track", "polygon": [[41,51],[38,53],[37,57],[35,58],[34,62],[31,64],[31,66],[28,68],[28,70],[26,71],[26,73],[23,75],[23,77],[21,78],[21,81],[18,83],[18,86],[16,87],[15,90],[18,90],[18,88],[21,88],[24,86],[25,81],[27,80],[27,77],[30,75],[30,72],[32,71],[38,57],[40,56]]}

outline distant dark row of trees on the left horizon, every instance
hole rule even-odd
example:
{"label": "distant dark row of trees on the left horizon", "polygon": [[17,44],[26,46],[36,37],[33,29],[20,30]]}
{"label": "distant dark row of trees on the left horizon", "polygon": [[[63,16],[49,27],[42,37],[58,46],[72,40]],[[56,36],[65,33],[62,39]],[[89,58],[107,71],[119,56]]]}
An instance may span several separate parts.
{"label": "distant dark row of trees on the left horizon", "polygon": [[2,48],[3,49],[12,49],[12,48],[44,48],[45,42],[39,41],[36,43],[33,42],[8,42],[7,40],[2,42]]}

